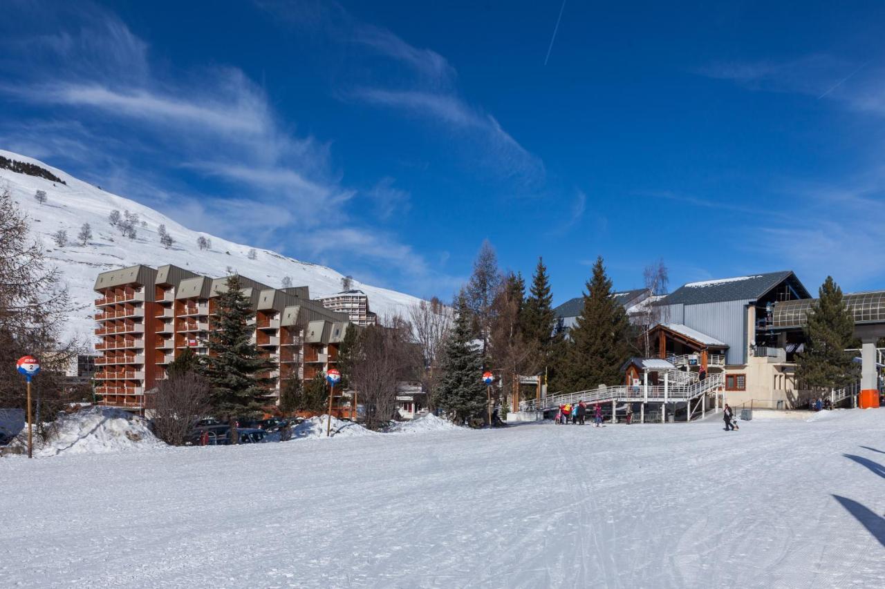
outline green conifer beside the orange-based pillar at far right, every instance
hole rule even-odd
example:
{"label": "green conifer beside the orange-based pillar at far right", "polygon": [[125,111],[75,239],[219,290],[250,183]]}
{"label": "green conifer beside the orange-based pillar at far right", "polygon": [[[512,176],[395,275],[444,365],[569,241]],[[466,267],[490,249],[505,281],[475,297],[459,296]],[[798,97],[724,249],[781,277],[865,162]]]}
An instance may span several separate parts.
{"label": "green conifer beside the orange-based pillar at far right", "polygon": [[818,297],[804,328],[805,350],[797,355],[797,379],[813,389],[848,386],[859,378],[858,364],[845,351],[857,347],[854,319],[832,276],[820,285]]}

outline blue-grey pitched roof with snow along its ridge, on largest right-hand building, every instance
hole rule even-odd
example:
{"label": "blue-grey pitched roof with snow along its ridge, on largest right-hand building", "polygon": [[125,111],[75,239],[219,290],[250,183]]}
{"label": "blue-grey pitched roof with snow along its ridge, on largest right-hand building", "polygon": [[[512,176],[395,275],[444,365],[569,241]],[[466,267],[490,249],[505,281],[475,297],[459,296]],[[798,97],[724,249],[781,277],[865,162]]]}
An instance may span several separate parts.
{"label": "blue-grey pitched roof with snow along its ridge, on largest right-hand building", "polygon": [[784,270],[727,279],[689,282],[667,295],[658,304],[696,305],[704,302],[755,301],[789,278],[793,279],[793,286],[801,298],[810,296],[796,275],[792,271]]}

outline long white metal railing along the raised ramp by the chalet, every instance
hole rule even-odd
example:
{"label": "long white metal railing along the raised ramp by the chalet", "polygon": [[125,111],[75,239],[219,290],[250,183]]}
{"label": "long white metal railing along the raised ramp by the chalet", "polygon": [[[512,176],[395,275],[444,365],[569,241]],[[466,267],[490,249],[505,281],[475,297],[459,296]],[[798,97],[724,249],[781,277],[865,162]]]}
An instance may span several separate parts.
{"label": "long white metal railing along the raised ramp by the chalet", "polygon": [[537,402],[535,399],[520,402],[519,408],[523,411],[543,411],[554,409],[560,405],[576,402],[604,402],[604,401],[688,401],[707,394],[713,390],[725,386],[724,374],[712,374],[704,380],[696,381],[690,385],[673,386],[606,386],[576,393],[554,394]]}

